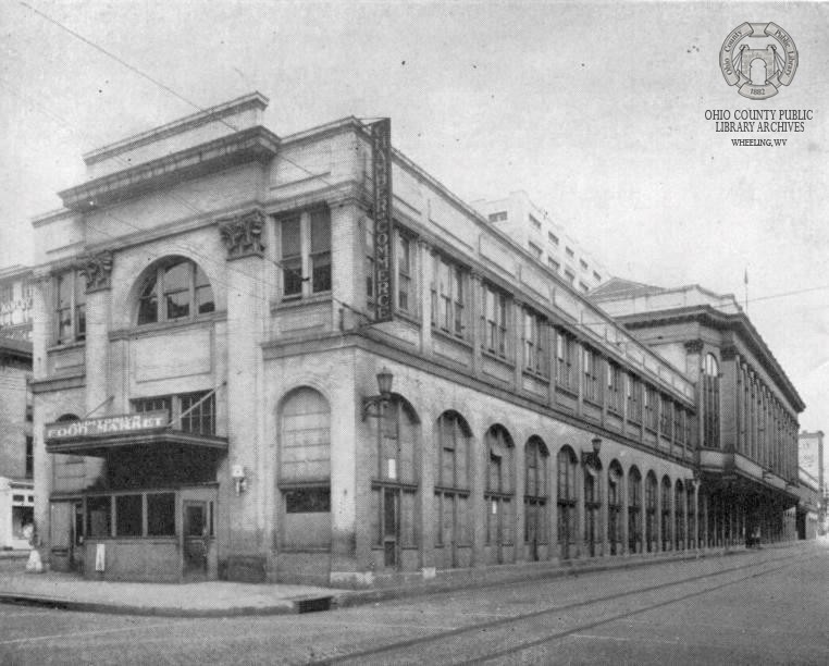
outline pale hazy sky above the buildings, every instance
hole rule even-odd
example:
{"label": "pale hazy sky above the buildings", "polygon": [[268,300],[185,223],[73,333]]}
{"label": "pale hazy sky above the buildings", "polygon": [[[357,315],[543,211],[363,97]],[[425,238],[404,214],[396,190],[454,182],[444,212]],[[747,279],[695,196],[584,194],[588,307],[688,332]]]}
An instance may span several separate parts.
{"label": "pale hazy sky above the buildings", "polygon": [[[746,21],[797,48],[768,100],[719,69]],[[9,0],[0,267],[32,261],[30,219],[85,180],[83,153],[256,89],[277,135],[391,116],[395,147],[463,200],[523,189],[615,275],[743,304],[747,273],[801,427],[829,431],[827,26],[816,2]],[[738,134],[705,118],[757,109],[813,120]],[[758,137],[787,144],[731,145]]]}

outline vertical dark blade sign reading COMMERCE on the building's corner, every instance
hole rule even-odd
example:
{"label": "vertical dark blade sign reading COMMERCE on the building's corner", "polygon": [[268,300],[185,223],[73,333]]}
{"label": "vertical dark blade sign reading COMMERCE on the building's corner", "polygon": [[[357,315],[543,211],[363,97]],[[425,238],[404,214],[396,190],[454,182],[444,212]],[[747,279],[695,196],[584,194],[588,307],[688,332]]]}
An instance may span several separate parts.
{"label": "vertical dark blade sign reading COMMERCE on the building's corner", "polygon": [[374,181],[374,303],[375,322],[392,321],[392,121],[371,125],[372,177]]}

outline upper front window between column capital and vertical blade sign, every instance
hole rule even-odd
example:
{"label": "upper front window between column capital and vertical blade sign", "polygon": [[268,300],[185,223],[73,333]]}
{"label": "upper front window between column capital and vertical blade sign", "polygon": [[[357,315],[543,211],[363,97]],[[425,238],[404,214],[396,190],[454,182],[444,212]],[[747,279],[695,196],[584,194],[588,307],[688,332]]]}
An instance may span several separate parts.
{"label": "upper front window between column capital and vertical blade sign", "polygon": [[331,213],[320,208],[282,219],[280,263],[283,298],[331,291]]}

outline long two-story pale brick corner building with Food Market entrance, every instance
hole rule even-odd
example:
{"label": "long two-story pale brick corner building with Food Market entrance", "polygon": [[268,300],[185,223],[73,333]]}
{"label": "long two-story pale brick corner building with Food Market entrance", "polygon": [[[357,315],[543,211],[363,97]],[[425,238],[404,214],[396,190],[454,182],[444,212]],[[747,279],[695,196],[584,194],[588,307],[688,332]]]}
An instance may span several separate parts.
{"label": "long two-story pale brick corner building with Food Market entrance", "polygon": [[34,222],[53,567],[416,585],[739,543],[698,502],[682,371],[374,153],[384,125],[277,137],[265,103],[87,155]]}

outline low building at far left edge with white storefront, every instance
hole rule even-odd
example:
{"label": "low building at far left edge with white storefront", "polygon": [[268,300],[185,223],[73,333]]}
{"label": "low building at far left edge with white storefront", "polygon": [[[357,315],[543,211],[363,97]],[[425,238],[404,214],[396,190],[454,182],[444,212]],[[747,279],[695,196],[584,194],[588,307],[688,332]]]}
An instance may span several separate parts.
{"label": "low building at far left edge with white storefront", "polygon": [[0,337],[0,548],[25,548],[34,522],[32,343]]}

